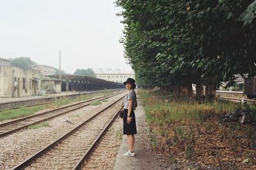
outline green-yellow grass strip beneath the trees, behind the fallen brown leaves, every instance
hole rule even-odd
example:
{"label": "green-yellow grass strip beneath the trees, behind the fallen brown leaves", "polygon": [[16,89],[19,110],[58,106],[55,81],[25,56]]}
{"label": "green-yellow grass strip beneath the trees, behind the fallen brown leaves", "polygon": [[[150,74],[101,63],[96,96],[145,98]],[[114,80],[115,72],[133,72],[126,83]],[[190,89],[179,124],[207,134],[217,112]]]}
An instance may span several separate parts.
{"label": "green-yellow grass strip beneath the trees, behind the fallen brown leaves", "polygon": [[140,90],[139,93],[143,98],[148,123],[151,124],[162,125],[185,120],[198,122],[211,120],[212,116],[218,116],[221,119],[225,112],[234,111],[234,107],[237,106],[237,104],[225,100],[205,101],[200,104],[197,100],[189,98],[164,96],[160,91],[150,93]]}

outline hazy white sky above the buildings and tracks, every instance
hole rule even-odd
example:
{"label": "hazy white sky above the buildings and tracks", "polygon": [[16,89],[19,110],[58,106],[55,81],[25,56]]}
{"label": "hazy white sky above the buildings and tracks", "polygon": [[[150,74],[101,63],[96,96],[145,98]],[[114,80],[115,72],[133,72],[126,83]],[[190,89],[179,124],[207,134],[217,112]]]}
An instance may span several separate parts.
{"label": "hazy white sky above the buildings and tracks", "polygon": [[0,0],[0,57],[29,57],[74,73],[76,68],[121,68],[122,18],[114,0]]}

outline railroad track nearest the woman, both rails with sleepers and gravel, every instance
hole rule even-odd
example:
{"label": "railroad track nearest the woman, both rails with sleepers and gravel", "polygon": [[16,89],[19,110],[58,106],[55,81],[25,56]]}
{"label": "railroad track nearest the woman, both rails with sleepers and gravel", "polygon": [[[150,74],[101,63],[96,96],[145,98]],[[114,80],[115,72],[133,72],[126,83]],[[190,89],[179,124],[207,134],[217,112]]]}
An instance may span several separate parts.
{"label": "railroad track nearest the woman, both rails with sleepers and gravel", "polygon": [[116,111],[115,104],[124,97],[93,114],[13,169],[79,169],[122,109]]}

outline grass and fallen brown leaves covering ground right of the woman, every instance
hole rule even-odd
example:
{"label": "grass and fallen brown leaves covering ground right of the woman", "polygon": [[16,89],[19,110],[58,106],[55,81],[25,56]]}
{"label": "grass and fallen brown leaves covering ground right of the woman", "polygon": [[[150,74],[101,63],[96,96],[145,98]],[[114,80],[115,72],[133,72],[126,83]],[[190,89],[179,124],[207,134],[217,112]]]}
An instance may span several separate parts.
{"label": "grass and fallen brown leaves covering ground right of the woman", "polygon": [[[161,91],[140,89],[152,150],[166,162],[186,169],[255,169],[256,128],[237,122],[223,123],[227,112],[250,108],[228,101],[198,102],[173,98]],[[254,113],[253,113],[254,112]],[[243,161],[247,159],[248,163]],[[196,166],[195,166],[196,165]]]}

